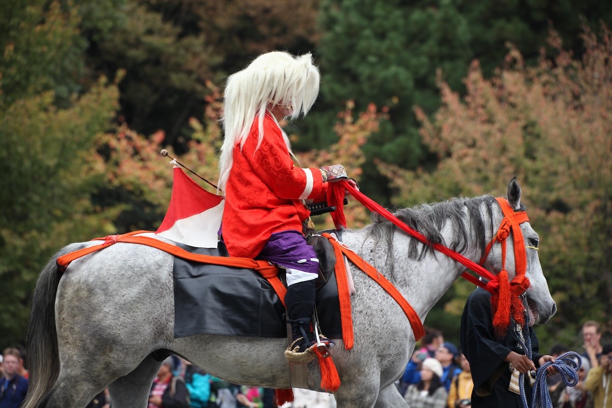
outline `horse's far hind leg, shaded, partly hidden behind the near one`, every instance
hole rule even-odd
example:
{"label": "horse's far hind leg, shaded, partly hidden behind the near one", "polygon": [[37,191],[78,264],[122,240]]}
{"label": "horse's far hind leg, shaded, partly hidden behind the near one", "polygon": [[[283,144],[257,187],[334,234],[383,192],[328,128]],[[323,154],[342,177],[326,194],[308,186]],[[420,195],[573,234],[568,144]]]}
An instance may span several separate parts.
{"label": "horse's far hind leg, shaded, partly hidden behind the near one", "polygon": [[146,407],[151,383],[162,363],[147,355],[138,367],[108,386],[113,408]]}

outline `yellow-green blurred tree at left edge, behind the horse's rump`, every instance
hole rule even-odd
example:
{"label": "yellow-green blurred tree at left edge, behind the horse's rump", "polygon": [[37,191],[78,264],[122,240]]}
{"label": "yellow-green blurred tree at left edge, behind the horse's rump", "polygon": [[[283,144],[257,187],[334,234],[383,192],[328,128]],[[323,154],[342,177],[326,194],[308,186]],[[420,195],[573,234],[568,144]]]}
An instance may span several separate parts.
{"label": "yellow-green blurred tree at left edge, behind the horse's rump", "polygon": [[61,243],[111,229],[115,213],[89,202],[103,181],[93,139],[118,107],[116,86],[100,83],[58,110],[51,92],[0,109],[0,332],[23,340],[29,295]]}

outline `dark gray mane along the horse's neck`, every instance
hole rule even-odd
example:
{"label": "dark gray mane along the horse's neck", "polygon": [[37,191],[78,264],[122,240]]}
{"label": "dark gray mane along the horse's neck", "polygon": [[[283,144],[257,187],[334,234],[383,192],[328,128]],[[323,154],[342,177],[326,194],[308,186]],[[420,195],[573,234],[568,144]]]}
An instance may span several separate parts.
{"label": "dark gray mane along the horse's neck", "polygon": [[[420,204],[414,208],[397,210],[394,215],[410,228],[416,229],[427,237],[432,244],[440,243],[459,253],[466,249],[468,240],[473,240],[482,256],[487,247],[486,228],[493,230],[492,205],[494,202],[495,199],[492,196],[453,198],[436,204]],[[483,211],[487,212],[487,218],[484,217]],[[372,213],[371,220],[372,223],[364,228],[367,236],[374,238],[375,246],[383,243],[387,248],[391,248],[397,227],[379,213]],[[444,242],[440,231],[447,221],[450,221],[454,231],[450,242]],[[485,225],[487,221],[490,223],[489,226]],[[426,254],[432,252],[431,246],[424,245],[417,239],[412,239],[408,248],[408,256],[413,259],[422,259]]]}

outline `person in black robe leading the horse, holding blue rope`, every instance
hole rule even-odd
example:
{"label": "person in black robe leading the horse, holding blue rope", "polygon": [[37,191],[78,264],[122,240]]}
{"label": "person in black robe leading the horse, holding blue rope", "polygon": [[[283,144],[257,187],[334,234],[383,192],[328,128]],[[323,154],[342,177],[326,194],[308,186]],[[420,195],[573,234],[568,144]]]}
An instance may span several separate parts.
{"label": "person in black robe leading the horse, holding blue rope", "polygon": [[[521,396],[509,390],[512,374],[509,363],[525,374],[544,362],[554,361],[550,355],[539,354],[532,327],[523,327],[524,339],[526,336],[531,339],[532,358],[529,360],[517,346],[517,339],[512,334],[514,325],[512,322],[506,335],[498,338],[493,329],[491,294],[479,287],[469,295],[461,316],[461,351],[472,369],[472,408],[523,408]],[[531,404],[528,377],[529,374],[524,376],[524,389],[528,404]]]}

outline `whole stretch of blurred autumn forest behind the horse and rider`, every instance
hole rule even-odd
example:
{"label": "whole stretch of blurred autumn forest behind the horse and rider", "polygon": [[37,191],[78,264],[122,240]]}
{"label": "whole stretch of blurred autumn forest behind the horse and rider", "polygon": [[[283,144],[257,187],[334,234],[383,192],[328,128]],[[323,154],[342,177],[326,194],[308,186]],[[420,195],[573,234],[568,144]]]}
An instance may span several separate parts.
{"label": "whole stretch of blurred autumn forest behind the horse and rider", "polygon": [[[392,208],[504,195],[517,176],[558,313],[540,344],[612,333],[612,2],[9,0],[0,7],[0,348],[23,343],[65,244],[157,229],[168,149],[211,180],[225,77],[312,51],[321,95],[286,125]],[[206,186],[204,186],[206,187]],[[367,212],[354,200],[347,220]],[[319,228],[330,222],[319,217]],[[458,341],[473,287],[427,317]]]}

